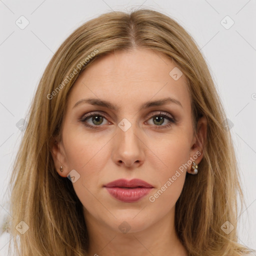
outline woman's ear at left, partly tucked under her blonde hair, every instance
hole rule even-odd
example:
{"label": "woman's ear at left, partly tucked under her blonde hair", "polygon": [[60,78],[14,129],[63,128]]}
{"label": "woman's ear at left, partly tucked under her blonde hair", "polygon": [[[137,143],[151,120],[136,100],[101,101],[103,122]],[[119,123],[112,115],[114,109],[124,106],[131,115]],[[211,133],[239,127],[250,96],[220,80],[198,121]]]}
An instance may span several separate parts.
{"label": "woman's ear at left, partly tucked under her blonde hair", "polygon": [[[56,171],[61,177],[66,177],[68,169],[62,141],[53,138],[50,153],[53,158]],[[60,166],[62,166],[62,172],[60,171]]]}

